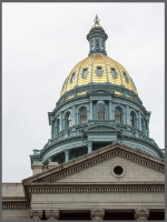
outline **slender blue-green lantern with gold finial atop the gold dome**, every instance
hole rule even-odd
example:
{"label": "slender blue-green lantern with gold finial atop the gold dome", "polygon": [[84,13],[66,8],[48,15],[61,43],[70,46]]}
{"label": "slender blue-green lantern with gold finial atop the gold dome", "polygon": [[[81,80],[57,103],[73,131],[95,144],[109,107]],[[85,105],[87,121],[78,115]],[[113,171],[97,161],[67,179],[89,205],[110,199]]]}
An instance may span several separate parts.
{"label": "slender blue-green lantern with gold finial atop the gold dome", "polygon": [[104,28],[99,24],[100,19],[96,14],[94,20],[95,24],[91,27],[89,33],[87,34],[87,40],[89,41],[89,56],[94,53],[102,53],[107,56],[106,52],[106,40],[108,38]]}

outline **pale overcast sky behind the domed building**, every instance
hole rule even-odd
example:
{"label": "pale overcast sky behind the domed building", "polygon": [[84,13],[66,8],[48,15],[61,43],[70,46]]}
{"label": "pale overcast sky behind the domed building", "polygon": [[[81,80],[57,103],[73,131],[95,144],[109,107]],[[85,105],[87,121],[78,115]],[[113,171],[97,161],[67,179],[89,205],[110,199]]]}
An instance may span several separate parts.
{"label": "pale overcast sky behind the domed building", "polygon": [[2,3],[2,181],[32,174],[33,149],[50,138],[48,112],[71,69],[88,56],[94,18],[107,53],[151,111],[150,138],[165,148],[165,3]]}

